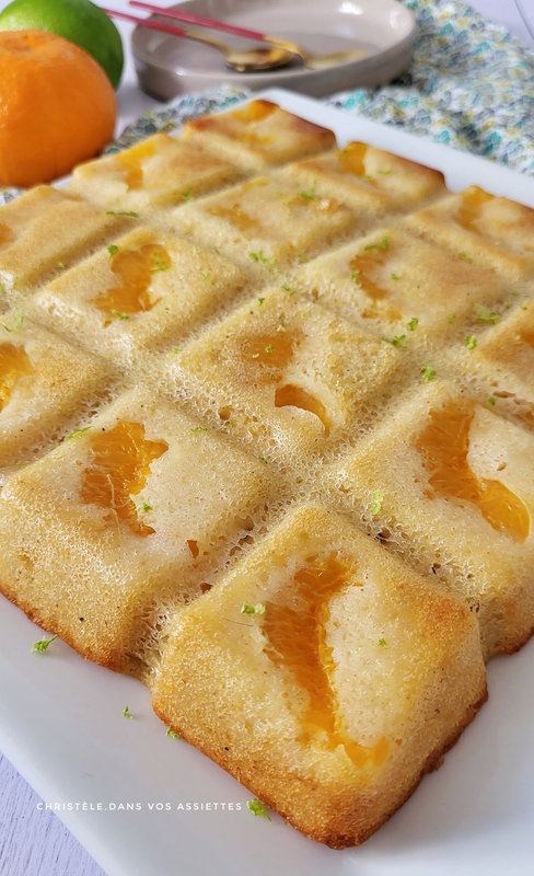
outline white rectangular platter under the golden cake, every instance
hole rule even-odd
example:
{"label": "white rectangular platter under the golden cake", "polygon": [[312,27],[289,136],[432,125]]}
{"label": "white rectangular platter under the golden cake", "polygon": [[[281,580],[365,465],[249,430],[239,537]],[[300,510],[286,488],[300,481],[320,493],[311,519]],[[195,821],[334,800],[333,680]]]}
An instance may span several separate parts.
{"label": "white rectangular platter under the golden cake", "polygon": [[[364,140],[442,170],[453,189],[476,183],[534,207],[534,178],[290,92],[255,96],[332,128],[341,146]],[[108,876],[534,873],[534,641],[491,660],[489,702],[444,765],[364,845],[333,851],[278,816],[254,818],[242,785],[165,735],[139,682],[59,641],[32,654],[42,635],[0,598],[0,749]]]}

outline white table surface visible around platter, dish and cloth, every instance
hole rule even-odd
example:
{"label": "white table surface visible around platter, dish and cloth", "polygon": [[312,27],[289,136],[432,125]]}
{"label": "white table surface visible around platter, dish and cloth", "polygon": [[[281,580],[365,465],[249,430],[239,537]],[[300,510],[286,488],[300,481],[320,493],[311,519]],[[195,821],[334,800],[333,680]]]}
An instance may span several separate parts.
{"label": "white table surface visible around platter, dish and cloth", "polygon": [[[516,2],[518,5],[514,0],[471,0],[475,9],[503,24],[525,45],[534,48],[534,0]],[[8,0],[0,0],[0,10],[7,5]],[[109,7],[128,9],[127,0],[109,0]],[[158,106],[158,102],[143,94],[137,85],[129,54],[131,27],[126,23],[118,26],[124,36],[126,67],[118,90],[117,132],[141,113]],[[39,797],[1,752],[0,788],[0,876],[105,876],[54,814],[37,809]]]}

